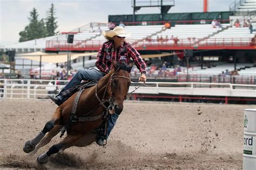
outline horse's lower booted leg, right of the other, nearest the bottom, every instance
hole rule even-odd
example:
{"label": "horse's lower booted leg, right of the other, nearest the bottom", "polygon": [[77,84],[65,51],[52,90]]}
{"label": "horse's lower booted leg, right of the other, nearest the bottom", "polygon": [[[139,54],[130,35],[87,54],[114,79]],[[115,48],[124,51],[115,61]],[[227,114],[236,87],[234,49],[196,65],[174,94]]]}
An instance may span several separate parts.
{"label": "horse's lower booted leg, right of the other, nearest the bottom", "polygon": [[58,153],[60,149],[69,148],[74,145],[74,143],[81,138],[82,135],[67,135],[59,144],[53,145],[50,147],[48,152],[43,153],[39,157],[37,157],[38,164],[46,164],[48,162],[48,158],[55,153]]}

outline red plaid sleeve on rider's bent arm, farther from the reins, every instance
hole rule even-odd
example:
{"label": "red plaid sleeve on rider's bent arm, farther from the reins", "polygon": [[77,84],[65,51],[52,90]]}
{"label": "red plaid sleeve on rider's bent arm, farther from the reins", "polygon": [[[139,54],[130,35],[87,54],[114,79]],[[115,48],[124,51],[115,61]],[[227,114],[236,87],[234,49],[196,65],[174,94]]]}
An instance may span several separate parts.
{"label": "red plaid sleeve on rider's bent arm, farther from the reins", "polygon": [[100,46],[100,49],[98,51],[98,56],[97,56],[97,62],[95,63],[95,65],[97,66],[99,71],[108,73],[109,68],[106,65],[106,58],[104,56],[104,52],[105,52],[105,43],[102,46]]}

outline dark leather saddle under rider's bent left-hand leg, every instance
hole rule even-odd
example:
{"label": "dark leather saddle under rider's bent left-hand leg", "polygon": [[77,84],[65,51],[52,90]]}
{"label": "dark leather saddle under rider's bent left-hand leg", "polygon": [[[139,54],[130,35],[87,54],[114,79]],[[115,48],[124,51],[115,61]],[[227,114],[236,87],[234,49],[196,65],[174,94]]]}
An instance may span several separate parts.
{"label": "dark leather saddle under rider's bent left-hand leg", "polygon": [[92,87],[98,83],[97,80],[89,79],[84,81],[83,83],[80,83],[77,86],[71,87],[68,90],[65,90],[63,92],[60,92],[60,95],[63,96],[64,98],[69,98],[71,97],[74,93],[79,91],[80,89],[88,89],[89,87]]}

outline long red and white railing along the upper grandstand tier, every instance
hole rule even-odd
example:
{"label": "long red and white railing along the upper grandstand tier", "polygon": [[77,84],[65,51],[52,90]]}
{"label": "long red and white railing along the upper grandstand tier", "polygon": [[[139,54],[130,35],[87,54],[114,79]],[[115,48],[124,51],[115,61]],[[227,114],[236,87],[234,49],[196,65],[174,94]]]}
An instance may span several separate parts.
{"label": "long red and white railing along the upper grandstand tier", "polygon": [[[146,42],[146,41],[137,41],[133,42],[133,46],[138,50],[152,50],[161,49],[161,48],[173,48],[173,49],[185,49],[187,47],[239,47],[251,48],[254,49],[256,44],[255,38],[211,38],[211,39],[198,39],[196,42],[193,40],[195,38],[184,38],[178,39],[177,43],[169,42]],[[202,40],[200,43],[197,43],[199,40]],[[129,40],[127,41],[129,42]],[[102,41],[100,40],[74,40],[73,44],[70,44],[69,50],[98,50]],[[46,50],[68,50],[68,43],[66,40],[51,40],[46,42]]]}

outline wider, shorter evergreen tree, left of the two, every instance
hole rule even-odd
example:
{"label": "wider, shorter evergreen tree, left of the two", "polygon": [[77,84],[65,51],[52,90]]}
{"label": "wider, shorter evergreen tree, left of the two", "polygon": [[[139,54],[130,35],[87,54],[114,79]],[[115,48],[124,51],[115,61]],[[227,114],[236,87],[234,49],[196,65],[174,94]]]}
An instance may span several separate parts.
{"label": "wider, shorter evergreen tree, left of the two", "polygon": [[46,29],[44,26],[44,20],[38,21],[38,13],[35,8],[30,12],[29,25],[25,29],[19,32],[19,42],[24,42],[31,39],[46,37]]}

